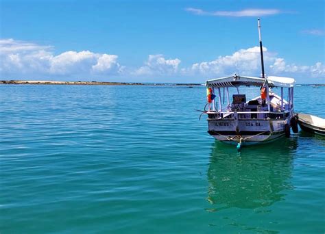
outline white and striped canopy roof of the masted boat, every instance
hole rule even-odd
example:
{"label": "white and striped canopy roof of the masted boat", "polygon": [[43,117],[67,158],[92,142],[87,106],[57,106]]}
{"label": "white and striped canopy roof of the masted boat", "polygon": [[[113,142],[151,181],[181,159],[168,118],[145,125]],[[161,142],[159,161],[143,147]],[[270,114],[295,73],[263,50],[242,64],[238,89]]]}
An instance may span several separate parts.
{"label": "white and striped canopy roof of the masted boat", "polygon": [[262,86],[267,81],[269,87],[293,87],[295,79],[289,77],[241,77],[233,75],[232,77],[221,77],[206,81],[207,87],[237,87],[237,86]]}

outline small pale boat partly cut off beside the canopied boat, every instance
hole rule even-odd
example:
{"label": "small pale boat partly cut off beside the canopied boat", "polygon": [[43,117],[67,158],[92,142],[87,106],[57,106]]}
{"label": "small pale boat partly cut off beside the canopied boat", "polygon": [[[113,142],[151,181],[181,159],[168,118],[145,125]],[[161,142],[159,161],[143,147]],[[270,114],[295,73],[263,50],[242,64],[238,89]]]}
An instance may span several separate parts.
{"label": "small pale boat partly cut off beside the canopied boat", "polygon": [[311,114],[298,113],[298,125],[303,131],[325,135],[325,119]]}

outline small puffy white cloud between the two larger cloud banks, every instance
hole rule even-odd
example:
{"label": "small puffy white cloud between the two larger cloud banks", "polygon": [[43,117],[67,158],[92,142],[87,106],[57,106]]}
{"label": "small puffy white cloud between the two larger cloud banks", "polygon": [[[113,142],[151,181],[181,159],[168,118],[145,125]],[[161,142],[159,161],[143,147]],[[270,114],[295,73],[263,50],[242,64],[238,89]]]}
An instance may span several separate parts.
{"label": "small puffy white cloud between the two larger cloud banks", "polygon": [[178,58],[166,60],[163,55],[149,55],[145,66],[136,69],[134,75],[173,75],[178,73]]}

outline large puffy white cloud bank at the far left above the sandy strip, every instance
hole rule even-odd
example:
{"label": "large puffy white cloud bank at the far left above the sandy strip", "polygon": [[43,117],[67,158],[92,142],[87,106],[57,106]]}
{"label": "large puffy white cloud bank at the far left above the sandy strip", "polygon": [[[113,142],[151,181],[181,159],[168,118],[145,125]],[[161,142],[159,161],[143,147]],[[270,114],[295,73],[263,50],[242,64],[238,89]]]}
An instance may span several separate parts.
{"label": "large puffy white cloud bank at the far left above the sandy strip", "polygon": [[117,74],[123,70],[117,58],[117,55],[91,51],[66,51],[54,55],[49,46],[13,39],[0,40],[1,76]]}

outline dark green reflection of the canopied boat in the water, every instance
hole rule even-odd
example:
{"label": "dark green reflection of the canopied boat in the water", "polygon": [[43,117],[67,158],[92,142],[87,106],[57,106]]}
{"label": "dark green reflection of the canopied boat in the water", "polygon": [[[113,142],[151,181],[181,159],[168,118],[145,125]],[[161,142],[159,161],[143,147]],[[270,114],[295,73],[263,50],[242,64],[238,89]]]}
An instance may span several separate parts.
{"label": "dark green reflection of the canopied boat in the water", "polygon": [[[256,209],[284,200],[293,189],[290,179],[296,139],[245,148],[215,142],[208,167],[208,198],[215,211]],[[209,211],[211,209],[208,209]]]}

